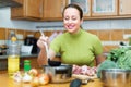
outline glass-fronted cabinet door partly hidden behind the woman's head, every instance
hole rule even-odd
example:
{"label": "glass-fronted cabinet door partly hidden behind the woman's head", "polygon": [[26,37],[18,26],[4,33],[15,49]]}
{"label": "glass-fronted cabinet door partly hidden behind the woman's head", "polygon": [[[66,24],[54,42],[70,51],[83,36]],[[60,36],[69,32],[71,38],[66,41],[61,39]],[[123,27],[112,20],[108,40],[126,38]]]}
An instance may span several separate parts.
{"label": "glass-fronted cabinet door partly hidden behind the woman's head", "polygon": [[69,0],[69,3],[80,5],[83,10],[84,17],[91,16],[91,0]]}

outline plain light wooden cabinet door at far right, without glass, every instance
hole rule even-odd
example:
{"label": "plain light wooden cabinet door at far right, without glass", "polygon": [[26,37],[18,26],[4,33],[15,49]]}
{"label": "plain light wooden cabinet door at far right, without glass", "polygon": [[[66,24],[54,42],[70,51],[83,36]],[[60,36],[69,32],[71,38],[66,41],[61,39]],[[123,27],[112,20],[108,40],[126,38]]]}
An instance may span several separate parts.
{"label": "plain light wooden cabinet door at far right, without glass", "polygon": [[128,15],[131,14],[131,0],[120,0],[119,1],[119,14]]}

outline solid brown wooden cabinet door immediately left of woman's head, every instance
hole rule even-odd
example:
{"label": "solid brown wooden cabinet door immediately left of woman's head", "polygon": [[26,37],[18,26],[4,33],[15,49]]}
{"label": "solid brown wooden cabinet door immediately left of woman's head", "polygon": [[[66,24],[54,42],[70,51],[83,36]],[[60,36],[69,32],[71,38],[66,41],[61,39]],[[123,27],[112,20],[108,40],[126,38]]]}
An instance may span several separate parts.
{"label": "solid brown wooden cabinet door immediately left of woman's head", "polygon": [[62,20],[62,10],[67,0],[44,0],[44,21]]}

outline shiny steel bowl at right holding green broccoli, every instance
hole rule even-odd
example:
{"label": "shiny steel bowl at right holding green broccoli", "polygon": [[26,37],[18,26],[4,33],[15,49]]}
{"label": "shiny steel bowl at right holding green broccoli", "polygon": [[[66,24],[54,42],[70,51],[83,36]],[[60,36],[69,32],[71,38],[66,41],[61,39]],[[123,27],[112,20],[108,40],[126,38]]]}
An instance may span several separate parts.
{"label": "shiny steel bowl at right holding green broccoli", "polygon": [[131,87],[131,70],[105,69],[100,79],[104,87]]}

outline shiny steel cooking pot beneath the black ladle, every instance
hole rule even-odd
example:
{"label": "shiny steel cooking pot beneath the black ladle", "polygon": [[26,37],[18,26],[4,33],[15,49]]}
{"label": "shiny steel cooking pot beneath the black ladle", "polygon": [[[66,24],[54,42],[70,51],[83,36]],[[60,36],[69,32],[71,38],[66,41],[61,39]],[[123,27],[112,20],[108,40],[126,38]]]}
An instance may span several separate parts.
{"label": "shiny steel cooking pot beneath the black ladle", "polygon": [[72,80],[72,65],[60,66],[44,65],[44,73],[50,76],[50,83],[67,83]]}

